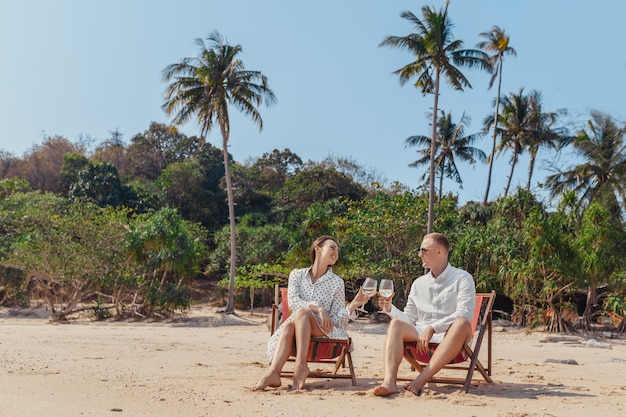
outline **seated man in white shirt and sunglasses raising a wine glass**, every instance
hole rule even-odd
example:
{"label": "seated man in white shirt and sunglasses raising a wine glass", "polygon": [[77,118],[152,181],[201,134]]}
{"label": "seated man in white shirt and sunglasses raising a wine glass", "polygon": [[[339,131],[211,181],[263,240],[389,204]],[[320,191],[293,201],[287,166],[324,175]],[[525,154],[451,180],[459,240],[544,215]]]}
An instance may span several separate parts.
{"label": "seated man in white shirt and sunglasses raising a wine glass", "polygon": [[448,263],[450,244],[441,233],[430,233],[422,240],[419,256],[430,271],[411,285],[404,311],[391,303],[393,295],[379,297],[378,305],[391,318],[385,344],[384,380],[374,389],[381,397],[398,392],[396,380],[402,362],[404,342],[417,342],[420,352],[429,343],[439,343],[428,365],[404,389],[419,395],[430,377],[448,364],[465,342],[472,339],[470,322],[474,315],[476,287],[467,272]]}

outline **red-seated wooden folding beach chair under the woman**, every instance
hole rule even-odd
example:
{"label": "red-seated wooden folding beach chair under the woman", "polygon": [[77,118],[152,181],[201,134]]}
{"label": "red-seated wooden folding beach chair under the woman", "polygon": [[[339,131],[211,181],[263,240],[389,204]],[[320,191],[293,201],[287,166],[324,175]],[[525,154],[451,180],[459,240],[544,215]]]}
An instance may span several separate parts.
{"label": "red-seated wooden folding beach chair under the woman", "polygon": [[[279,307],[280,306],[280,307]],[[274,331],[278,326],[289,317],[291,311],[287,302],[287,288],[280,288],[278,285],[274,288],[274,304],[272,305],[272,318],[270,323],[270,332]],[[280,317],[279,317],[280,316]],[[352,385],[356,385],[356,376],[354,374],[354,366],[352,364],[352,356],[350,348],[352,339],[329,339],[327,337],[311,337],[309,344],[309,353],[307,362],[325,364],[327,371],[324,369],[311,370],[309,378],[350,378]],[[294,343],[293,351],[289,361],[293,362],[296,356],[296,346]],[[346,368],[348,362],[348,369]],[[330,370],[330,367],[333,367]],[[342,372],[339,372],[343,369]],[[281,376],[293,376],[293,371],[283,370]]]}

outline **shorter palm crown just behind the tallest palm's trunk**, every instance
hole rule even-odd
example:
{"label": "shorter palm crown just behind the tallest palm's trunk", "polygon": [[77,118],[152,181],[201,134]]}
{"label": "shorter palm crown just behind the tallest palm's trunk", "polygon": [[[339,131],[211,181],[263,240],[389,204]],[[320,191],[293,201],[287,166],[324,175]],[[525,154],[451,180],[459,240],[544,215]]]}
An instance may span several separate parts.
{"label": "shorter palm crown just behind the tallest palm's trunk", "polygon": [[[461,116],[458,123],[452,122],[452,114],[447,114],[441,111],[441,116],[437,123],[437,143],[435,144],[435,167],[439,173],[439,198],[438,202],[441,203],[441,196],[443,192],[443,178],[447,177],[460,184],[463,188],[463,180],[461,179],[461,173],[456,165],[456,159],[460,159],[463,162],[468,162],[471,165],[477,161],[484,162],[486,159],[485,153],[473,147],[472,145],[481,138],[482,133],[473,133],[468,136],[464,136],[465,127],[469,124],[470,117],[465,113]],[[425,148],[419,149],[418,154],[422,157],[417,161],[409,164],[411,167],[418,167],[430,163],[430,137],[428,136],[410,136],[404,143],[405,146],[423,145]],[[428,178],[430,171],[426,171],[422,175],[421,179]]]}

